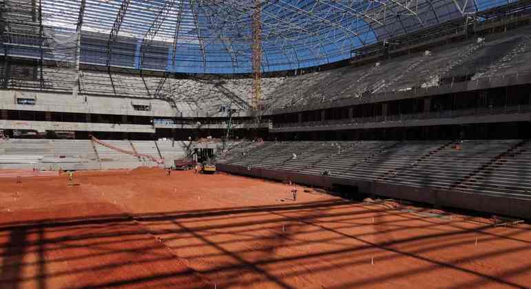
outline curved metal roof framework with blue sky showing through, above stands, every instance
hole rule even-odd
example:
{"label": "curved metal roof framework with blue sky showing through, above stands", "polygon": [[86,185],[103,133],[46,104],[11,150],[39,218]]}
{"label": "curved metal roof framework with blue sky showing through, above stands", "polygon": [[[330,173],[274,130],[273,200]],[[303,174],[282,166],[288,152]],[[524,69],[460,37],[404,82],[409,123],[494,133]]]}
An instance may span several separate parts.
{"label": "curved metal roof framework with blue sky showing through, above stands", "polygon": [[68,62],[81,32],[85,64],[249,73],[253,13],[260,9],[262,71],[273,72],[341,61],[355,48],[508,2],[0,0],[1,50],[6,56]]}

